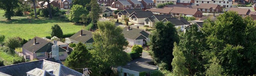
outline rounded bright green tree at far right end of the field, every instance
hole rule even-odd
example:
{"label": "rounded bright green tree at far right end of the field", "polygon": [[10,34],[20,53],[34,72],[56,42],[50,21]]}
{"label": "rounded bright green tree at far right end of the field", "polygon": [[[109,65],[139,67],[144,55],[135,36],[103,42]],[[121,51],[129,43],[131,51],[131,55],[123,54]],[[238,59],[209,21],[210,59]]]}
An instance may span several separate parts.
{"label": "rounded bright green tree at far right end of the field", "polygon": [[69,20],[73,21],[74,23],[79,22],[81,20],[81,15],[87,15],[89,12],[86,8],[83,8],[82,5],[73,5],[73,8],[70,10]]}

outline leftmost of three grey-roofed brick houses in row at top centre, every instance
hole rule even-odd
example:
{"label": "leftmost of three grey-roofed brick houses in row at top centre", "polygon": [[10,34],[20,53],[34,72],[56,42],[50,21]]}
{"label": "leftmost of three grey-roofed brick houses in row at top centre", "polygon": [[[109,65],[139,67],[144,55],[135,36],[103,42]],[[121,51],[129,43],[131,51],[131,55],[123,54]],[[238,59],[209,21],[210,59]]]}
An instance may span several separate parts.
{"label": "leftmost of three grey-roofed brick houses in row at top centre", "polygon": [[132,9],[132,4],[126,0],[118,0],[113,2],[111,5],[112,8],[118,8],[118,10]]}

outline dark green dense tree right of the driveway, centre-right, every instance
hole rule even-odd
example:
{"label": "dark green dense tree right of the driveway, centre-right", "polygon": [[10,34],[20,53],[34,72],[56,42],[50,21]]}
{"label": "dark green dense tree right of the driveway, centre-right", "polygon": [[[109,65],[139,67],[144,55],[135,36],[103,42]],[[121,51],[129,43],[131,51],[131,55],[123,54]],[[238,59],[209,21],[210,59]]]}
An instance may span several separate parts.
{"label": "dark green dense tree right of the driveway, centre-right", "polygon": [[172,70],[170,65],[173,59],[173,43],[179,43],[179,37],[174,26],[170,22],[157,22],[155,23],[156,30],[149,35],[149,45],[152,50],[150,55],[153,61],[156,64],[166,63],[168,65],[167,70]]}

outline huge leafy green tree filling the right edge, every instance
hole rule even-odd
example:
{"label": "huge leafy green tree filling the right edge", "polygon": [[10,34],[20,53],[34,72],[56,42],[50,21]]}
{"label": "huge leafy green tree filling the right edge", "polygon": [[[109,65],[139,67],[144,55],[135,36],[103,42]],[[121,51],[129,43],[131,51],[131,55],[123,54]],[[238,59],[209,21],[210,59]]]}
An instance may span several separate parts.
{"label": "huge leafy green tree filling the right edge", "polygon": [[252,18],[243,18],[233,11],[224,12],[215,22],[207,20],[202,29],[209,46],[205,59],[216,57],[228,75],[256,74],[255,25]]}

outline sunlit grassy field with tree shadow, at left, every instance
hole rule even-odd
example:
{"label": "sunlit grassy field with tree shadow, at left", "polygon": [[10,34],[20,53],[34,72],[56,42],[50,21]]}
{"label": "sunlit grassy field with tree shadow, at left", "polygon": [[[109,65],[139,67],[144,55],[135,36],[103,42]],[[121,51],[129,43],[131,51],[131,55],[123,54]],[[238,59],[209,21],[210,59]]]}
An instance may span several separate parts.
{"label": "sunlit grassy field with tree shadow, at left", "polygon": [[[51,26],[58,24],[63,34],[75,33],[81,30],[80,25],[74,25],[71,22],[48,20],[47,18],[28,19],[26,16],[15,16],[12,20],[7,21],[4,10],[0,10],[0,34],[7,37],[20,36],[24,39],[32,39],[34,36],[50,36]],[[31,22],[29,22],[31,21]],[[82,29],[86,28],[85,26]]]}

